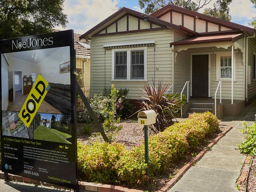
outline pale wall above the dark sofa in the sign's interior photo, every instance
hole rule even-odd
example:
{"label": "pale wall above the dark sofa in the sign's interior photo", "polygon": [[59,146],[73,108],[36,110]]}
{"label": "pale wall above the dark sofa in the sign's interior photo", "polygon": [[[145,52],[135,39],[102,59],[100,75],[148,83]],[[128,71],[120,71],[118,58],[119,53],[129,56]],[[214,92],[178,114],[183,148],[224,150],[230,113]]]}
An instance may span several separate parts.
{"label": "pale wall above the dark sofa in the sign's interior photo", "polygon": [[70,84],[70,73],[59,73],[59,65],[70,61],[69,47],[59,48],[37,66],[37,74],[41,74],[48,83]]}

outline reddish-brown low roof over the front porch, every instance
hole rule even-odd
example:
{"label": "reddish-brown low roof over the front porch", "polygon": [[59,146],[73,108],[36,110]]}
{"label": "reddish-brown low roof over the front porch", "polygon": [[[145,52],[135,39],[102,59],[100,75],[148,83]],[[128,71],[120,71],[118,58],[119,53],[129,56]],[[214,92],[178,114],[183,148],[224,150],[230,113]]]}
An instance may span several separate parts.
{"label": "reddish-brown low roof over the front porch", "polygon": [[238,39],[241,39],[242,37],[244,37],[244,33],[221,34],[221,35],[200,35],[198,37],[192,37],[192,38],[187,38],[187,39],[183,39],[176,42],[171,42],[170,46],[208,43],[208,42],[223,42],[223,41],[235,42]]}

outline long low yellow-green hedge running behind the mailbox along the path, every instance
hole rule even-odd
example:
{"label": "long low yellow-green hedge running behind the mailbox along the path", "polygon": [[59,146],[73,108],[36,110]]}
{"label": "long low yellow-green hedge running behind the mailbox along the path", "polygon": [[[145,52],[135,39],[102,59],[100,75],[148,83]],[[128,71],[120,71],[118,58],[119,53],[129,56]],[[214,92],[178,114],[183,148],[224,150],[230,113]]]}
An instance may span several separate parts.
{"label": "long low yellow-green hedge running behind the mailbox along the path", "polygon": [[143,185],[147,179],[170,168],[187,151],[197,149],[204,138],[217,131],[218,120],[212,113],[193,113],[184,122],[175,123],[165,131],[149,137],[151,178],[145,175],[147,164],[144,144],[128,151],[123,144],[117,143],[78,143],[80,178],[104,184]]}

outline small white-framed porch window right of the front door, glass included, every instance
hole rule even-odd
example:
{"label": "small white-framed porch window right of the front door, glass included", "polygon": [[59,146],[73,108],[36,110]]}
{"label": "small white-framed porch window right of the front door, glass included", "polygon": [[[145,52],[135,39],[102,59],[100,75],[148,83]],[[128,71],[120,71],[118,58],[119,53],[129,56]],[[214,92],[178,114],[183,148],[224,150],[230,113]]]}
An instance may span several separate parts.
{"label": "small white-framed porch window right of the front door, glass included", "polygon": [[[236,53],[234,51],[234,77],[236,81]],[[219,81],[231,81],[232,77],[232,52],[216,52],[216,80]]]}

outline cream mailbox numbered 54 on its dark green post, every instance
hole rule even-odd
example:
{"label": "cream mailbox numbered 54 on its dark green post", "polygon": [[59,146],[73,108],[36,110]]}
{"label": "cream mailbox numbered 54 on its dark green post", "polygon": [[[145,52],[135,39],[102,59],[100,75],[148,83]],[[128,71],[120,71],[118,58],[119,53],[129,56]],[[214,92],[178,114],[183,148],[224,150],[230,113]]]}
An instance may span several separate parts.
{"label": "cream mailbox numbered 54 on its dark green post", "polygon": [[[154,110],[141,111],[138,113],[139,125],[144,125],[144,140],[145,140],[145,163],[147,164],[147,176],[149,178],[149,160],[148,160],[148,126],[156,123],[156,112]],[[146,183],[149,186],[149,180]]]}

